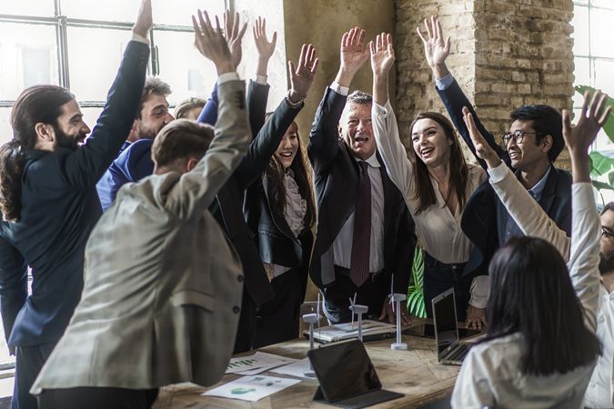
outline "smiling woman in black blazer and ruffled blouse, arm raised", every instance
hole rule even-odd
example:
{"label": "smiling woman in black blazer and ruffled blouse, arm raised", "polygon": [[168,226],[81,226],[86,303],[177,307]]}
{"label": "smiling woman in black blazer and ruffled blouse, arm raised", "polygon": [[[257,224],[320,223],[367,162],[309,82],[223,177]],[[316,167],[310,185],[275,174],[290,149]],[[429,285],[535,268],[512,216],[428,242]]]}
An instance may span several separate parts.
{"label": "smiling woman in black blazer and ruffled blouse, arm raised", "polygon": [[[300,102],[307,96],[317,67],[315,50],[304,45],[299,65],[311,67],[310,76],[302,79],[290,66],[293,86],[288,93],[301,90]],[[300,66],[299,66],[300,68]],[[296,73],[295,73],[296,71]],[[307,71],[306,71],[307,72]],[[305,74],[304,74],[305,75]],[[307,82],[301,85],[298,81]],[[296,83],[296,84],[295,84]],[[305,155],[298,135],[297,123],[276,111],[267,115],[263,132],[280,129],[281,121],[290,119],[282,135],[273,135],[277,150],[271,145],[270,160],[261,178],[247,188],[244,206],[247,224],[257,234],[260,258],[273,286],[275,297],[257,309],[257,325],[253,347],[277,344],[296,338],[300,304],[305,298],[307,273],[316,222],[316,206],[307,175]],[[271,123],[278,124],[271,126]],[[283,128],[281,128],[283,129]],[[258,135],[264,137],[264,135]]]}

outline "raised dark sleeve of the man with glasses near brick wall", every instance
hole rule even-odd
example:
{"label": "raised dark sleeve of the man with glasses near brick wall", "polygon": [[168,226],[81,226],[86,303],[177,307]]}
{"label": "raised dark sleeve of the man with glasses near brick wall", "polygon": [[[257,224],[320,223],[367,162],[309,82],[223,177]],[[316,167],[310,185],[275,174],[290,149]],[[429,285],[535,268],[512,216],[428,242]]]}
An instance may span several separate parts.
{"label": "raised dark sleeve of the man with glasses near brick wall", "polygon": [[[452,84],[450,84],[446,89],[441,90],[437,87],[436,89],[441,101],[444,105],[446,105],[446,109],[448,110],[448,115],[452,120],[452,123],[454,123],[454,126],[456,126],[458,129],[458,133],[468,145],[469,149],[471,149],[473,155],[476,156],[476,148],[471,142],[469,130],[467,125],[465,125],[465,121],[463,120],[463,106],[467,106],[469,112],[471,115],[473,115],[473,119],[476,121],[476,125],[478,126],[478,131],[484,136],[484,139],[486,139],[488,145],[490,145],[490,147],[497,152],[498,157],[501,158],[503,162],[511,167],[508,152],[495,142],[495,137],[488,132],[484,125],[482,125],[478,118],[478,114],[476,114],[476,110],[473,109],[473,105],[471,105],[467,99],[467,96],[465,93],[463,93],[463,90],[460,89],[457,80],[455,79],[452,81]],[[485,170],[488,169],[486,162],[479,159],[478,156],[476,156],[476,159],[478,159],[479,165],[481,165]]]}

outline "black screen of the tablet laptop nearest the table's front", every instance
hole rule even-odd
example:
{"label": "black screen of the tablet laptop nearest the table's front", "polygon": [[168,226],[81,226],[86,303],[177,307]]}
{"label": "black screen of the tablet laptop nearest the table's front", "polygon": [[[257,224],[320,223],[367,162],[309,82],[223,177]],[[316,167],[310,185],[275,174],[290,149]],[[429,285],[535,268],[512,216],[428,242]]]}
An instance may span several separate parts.
{"label": "black screen of the tablet laptop nearest the table's front", "polygon": [[381,388],[375,367],[357,340],[331,344],[307,353],[322,394],[335,402]]}

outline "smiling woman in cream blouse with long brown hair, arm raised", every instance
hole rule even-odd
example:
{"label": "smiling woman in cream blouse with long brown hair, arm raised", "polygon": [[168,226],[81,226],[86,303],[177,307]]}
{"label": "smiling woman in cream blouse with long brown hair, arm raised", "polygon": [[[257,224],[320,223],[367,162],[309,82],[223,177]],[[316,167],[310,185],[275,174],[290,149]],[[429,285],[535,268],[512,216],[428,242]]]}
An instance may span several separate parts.
{"label": "smiling woman in cream blouse with long brown hair, arm raised", "polygon": [[463,276],[472,244],[460,228],[463,208],[486,174],[480,166],[465,162],[454,127],[435,112],[416,116],[409,127],[413,149],[406,152],[388,99],[388,72],[395,60],[391,35],[377,35],[376,44],[369,48],[377,150],[390,179],[405,195],[426,253],[423,291],[427,315],[432,316],[431,300],[454,287],[458,320],[464,321],[468,309],[486,307],[488,298],[486,276]]}

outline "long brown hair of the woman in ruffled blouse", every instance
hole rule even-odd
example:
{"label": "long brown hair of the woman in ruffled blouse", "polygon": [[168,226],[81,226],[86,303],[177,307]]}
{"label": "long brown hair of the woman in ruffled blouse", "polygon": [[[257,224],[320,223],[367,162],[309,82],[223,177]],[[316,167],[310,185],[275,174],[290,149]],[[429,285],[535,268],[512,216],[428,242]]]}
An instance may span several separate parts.
{"label": "long brown hair of the woman in ruffled blouse", "polygon": [[[268,116],[270,115],[267,115],[267,118]],[[297,123],[293,122],[292,124],[297,126],[298,134]],[[316,203],[314,201],[314,195],[311,189],[311,182],[309,180],[309,176],[307,175],[307,158],[303,151],[303,144],[300,140],[300,135],[297,135],[297,141],[297,155],[295,155],[292,165],[290,165],[289,168],[292,169],[292,172],[294,172],[294,180],[297,182],[298,192],[300,193],[301,197],[307,201],[307,212],[305,213],[305,218],[303,219],[305,229],[307,230],[311,229],[316,224]],[[268,162],[266,177],[277,190],[276,201],[271,205],[277,205],[281,214],[286,213],[286,185],[284,185],[285,175],[286,170],[284,169],[284,165],[279,162],[275,154],[272,155],[271,160]]]}

